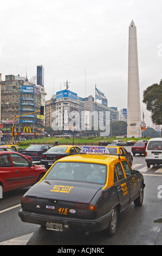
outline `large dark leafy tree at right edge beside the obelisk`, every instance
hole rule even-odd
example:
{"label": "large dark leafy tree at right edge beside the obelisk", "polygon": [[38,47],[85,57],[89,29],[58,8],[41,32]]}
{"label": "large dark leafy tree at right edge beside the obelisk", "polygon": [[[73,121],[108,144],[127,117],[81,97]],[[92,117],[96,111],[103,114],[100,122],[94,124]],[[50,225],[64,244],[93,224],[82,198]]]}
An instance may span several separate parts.
{"label": "large dark leafy tree at right edge beside the obelisk", "polygon": [[151,119],[154,124],[162,124],[162,80],[148,86],[143,93],[143,102],[146,109],[151,112]]}

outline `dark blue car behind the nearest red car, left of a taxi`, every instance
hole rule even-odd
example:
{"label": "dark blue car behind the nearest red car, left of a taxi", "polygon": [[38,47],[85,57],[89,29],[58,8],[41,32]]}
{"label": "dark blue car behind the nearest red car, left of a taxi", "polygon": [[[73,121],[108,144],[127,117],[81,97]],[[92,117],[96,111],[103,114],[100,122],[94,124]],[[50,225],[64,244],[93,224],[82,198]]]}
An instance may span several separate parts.
{"label": "dark blue car behind the nearest red car, left of a taxi", "polygon": [[51,145],[31,145],[27,149],[21,151],[22,155],[31,156],[33,161],[41,161],[41,156],[48,149],[52,148]]}

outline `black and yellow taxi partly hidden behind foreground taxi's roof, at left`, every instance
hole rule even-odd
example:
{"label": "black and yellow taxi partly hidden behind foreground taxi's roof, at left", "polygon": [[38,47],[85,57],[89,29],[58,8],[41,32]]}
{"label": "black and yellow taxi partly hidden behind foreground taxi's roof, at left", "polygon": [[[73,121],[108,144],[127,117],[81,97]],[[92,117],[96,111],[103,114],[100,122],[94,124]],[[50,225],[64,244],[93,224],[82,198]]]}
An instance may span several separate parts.
{"label": "black and yellow taxi partly hidden behind foreground taxi's roof, at left", "polygon": [[44,164],[46,169],[49,169],[54,162],[64,156],[69,156],[80,152],[80,148],[73,145],[60,145],[50,148],[46,153],[42,154],[41,164]]}

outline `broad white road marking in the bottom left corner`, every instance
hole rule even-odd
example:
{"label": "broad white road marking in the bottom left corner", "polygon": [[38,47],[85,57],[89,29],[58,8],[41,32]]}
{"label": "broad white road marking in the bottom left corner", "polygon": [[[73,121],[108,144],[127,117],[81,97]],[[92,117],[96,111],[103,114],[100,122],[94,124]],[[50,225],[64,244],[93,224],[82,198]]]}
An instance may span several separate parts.
{"label": "broad white road marking in the bottom left corner", "polygon": [[0,245],[27,245],[27,242],[31,238],[33,233],[22,235],[7,241],[0,242]]}

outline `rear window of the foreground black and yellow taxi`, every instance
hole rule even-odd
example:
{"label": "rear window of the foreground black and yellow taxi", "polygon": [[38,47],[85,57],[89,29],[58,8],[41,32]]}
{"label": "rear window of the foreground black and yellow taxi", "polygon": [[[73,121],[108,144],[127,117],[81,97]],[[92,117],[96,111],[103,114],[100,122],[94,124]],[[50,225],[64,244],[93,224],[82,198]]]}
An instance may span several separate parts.
{"label": "rear window of the foreground black and yellow taxi", "polygon": [[105,184],[106,173],[107,167],[105,164],[57,162],[50,169],[50,172],[45,179],[73,180]]}

